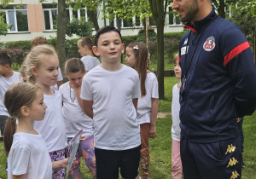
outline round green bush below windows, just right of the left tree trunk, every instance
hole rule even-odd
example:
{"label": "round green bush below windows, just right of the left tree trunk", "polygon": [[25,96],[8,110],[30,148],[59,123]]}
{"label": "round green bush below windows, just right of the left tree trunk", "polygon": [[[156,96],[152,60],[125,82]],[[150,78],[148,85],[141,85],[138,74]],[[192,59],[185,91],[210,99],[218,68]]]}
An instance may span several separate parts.
{"label": "round green bush below windows, just right of the left tree trunk", "polygon": [[84,17],[81,17],[80,20],[77,20],[73,17],[72,21],[67,22],[66,34],[68,37],[73,37],[73,34],[76,34],[80,38],[82,37],[92,37],[92,28],[93,25],[90,21],[86,22]]}

